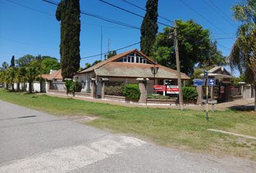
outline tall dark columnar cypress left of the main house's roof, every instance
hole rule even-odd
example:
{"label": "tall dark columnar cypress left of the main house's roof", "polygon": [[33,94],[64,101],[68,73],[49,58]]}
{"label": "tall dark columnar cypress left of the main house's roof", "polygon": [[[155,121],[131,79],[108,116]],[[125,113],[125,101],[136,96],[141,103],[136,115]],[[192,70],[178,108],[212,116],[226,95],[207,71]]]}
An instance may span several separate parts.
{"label": "tall dark columnar cypress left of the main house's roof", "polygon": [[80,1],[61,0],[56,19],[61,22],[61,74],[72,78],[80,68]]}

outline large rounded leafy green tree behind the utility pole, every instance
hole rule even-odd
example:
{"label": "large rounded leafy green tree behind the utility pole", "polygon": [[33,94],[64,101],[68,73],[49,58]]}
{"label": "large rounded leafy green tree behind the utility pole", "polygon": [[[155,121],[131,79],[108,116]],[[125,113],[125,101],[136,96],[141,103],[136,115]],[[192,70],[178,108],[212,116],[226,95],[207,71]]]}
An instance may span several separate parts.
{"label": "large rounded leafy green tree behind the utility pole", "polygon": [[[192,75],[195,65],[205,68],[225,64],[225,57],[217,50],[216,42],[210,42],[209,30],[204,30],[193,20],[179,20],[176,23],[179,27],[179,59],[182,72]],[[171,37],[173,32],[173,28],[165,27],[157,35],[151,58],[163,66],[176,69],[174,37]]]}

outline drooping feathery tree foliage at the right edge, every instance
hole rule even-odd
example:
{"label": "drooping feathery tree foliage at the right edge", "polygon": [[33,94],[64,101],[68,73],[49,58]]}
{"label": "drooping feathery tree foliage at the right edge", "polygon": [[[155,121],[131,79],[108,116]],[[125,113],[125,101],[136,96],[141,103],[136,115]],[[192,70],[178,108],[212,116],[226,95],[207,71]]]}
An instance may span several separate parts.
{"label": "drooping feathery tree foliage at the right edge", "polygon": [[[237,68],[249,83],[254,83],[256,97],[256,1],[244,0],[233,6],[233,17],[242,22],[229,56],[231,68]],[[256,112],[256,99],[255,99]]]}

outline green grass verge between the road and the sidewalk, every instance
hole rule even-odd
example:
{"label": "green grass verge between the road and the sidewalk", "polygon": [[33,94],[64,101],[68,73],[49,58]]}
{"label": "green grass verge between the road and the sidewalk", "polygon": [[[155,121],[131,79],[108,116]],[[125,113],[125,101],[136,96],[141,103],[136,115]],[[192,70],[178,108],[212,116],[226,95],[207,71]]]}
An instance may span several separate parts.
{"label": "green grass verge between the road and the sidewalk", "polygon": [[5,90],[0,90],[0,99],[52,115],[95,115],[99,118],[88,125],[129,133],[162,146],[217,156],[239,156],[256,161],[256,140],[207,130],[214,128],[256,136],[254,112],[210,112],[210,120],[206,121],[205,112],[195,110],[122,107]]}

